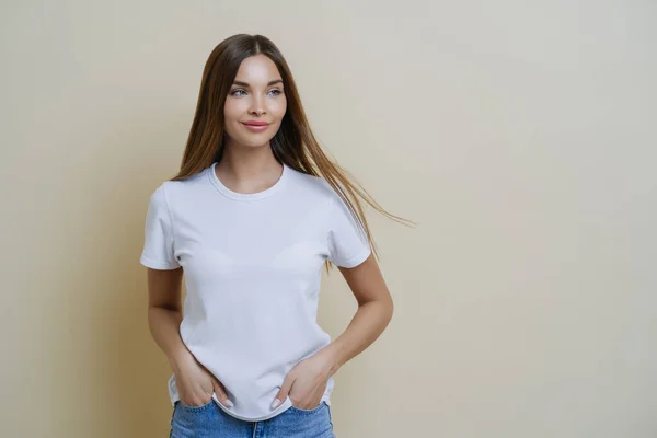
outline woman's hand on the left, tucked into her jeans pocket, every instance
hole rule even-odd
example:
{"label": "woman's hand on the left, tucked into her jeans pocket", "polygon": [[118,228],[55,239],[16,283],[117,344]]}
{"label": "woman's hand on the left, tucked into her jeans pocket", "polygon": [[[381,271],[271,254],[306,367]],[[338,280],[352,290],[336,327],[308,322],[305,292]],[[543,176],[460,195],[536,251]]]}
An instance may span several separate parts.
{"label": "woman's hand on the left, tucked into her jeans pocket", "polygon": [[174,373],[181,403],[187,406],[203,406],[212,400],[214,392],[221,404],[228,407],[233,406],[232,402],[228,400],[223,384],[198,362],[192,353]]}

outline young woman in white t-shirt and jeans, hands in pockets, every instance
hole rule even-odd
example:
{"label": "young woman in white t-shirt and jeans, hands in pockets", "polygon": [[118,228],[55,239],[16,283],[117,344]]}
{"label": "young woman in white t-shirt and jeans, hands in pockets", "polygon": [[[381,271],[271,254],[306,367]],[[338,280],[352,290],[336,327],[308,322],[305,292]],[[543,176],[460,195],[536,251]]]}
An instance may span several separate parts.
{"label": "young woman in white t-shirt and jeans, hands in pockets", "polygon": [[[180,173],[150,197],[140,257],[149,327],[173,371],[172,437],[334,436],[332,376],[393,313],[357,196],[405,221],[346,175],[277,47],[244,34],[219,44]],[[316,323],[330,263],[358,301],[333,342]]]}

